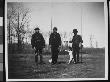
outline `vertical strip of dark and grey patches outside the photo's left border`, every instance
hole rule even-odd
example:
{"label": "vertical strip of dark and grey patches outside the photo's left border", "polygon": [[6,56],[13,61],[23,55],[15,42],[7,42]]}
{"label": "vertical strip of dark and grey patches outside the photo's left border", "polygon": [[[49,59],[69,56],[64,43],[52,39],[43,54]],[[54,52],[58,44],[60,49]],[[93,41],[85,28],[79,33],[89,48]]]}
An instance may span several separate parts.
{"label": "vertical strip of dark and grey patches outside the photo's left border", "polygon": [[0,0],[0,81],[3,81],[3,0]]}

